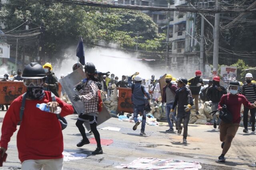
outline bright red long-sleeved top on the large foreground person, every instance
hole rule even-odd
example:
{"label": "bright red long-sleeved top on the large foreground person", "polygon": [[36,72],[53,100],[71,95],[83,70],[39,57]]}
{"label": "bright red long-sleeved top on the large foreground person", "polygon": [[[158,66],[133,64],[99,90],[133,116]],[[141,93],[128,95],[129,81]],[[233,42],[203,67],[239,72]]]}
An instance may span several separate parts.
{"label": "bright red long-sleeved top on the large foreground person", "polygon": [[[51,93],[45,91],[42,100],[26,100],[22,123],[17,134],[17,148],[19,159],[58,159],[62,158],[64,148],[61,125],[56,114],[41,111],[36,108],[36,103],[48,103],[52,101]],[[56,101],[62,108],[62,117],[71,115],[74,110],[72,105],[56,97]],[[10,105],[4,116],[0,146],[7,149],[12,134],[17,130],[20,121],[20,107],[22,95],[16,98]]]}

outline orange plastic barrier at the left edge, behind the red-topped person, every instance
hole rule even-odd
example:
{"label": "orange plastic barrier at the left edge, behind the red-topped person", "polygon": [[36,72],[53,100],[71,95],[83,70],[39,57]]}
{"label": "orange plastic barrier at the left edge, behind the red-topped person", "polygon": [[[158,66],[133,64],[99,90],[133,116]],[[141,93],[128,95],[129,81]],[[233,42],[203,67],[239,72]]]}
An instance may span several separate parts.
{"label": "orange plastic barrier at the left edge, behind the red-topped person", "polygon": [[21,81],[0,81],[0,104],[10,105],[26,91],[26,86]]}

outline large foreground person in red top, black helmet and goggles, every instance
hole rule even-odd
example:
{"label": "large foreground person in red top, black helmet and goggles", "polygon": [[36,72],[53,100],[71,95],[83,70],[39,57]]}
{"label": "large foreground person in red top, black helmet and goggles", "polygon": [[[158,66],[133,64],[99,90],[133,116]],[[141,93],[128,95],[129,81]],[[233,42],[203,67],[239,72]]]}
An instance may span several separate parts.
{"label": "large foreground person in red top, black helmet and goggles", "polygon": [[[17,134],[17,148],[22,170],[63,169],[62,127],[53,112],[61,107],[60,115],[64,117],[71,115],[74,110],[58,97],[55,97],[56,101],[52,101],[52,93],[44,91],[42,86],[45,77],[42,65],[26,65],[22,78],[27,92],[14,99],[2,125],[0,150],[4,153],[17,124],[21,122]],[[22,102],[25,102],[25,109],[20,119]],[[52,113],[41,111],[36,107],[37,103],[47,103]]]}

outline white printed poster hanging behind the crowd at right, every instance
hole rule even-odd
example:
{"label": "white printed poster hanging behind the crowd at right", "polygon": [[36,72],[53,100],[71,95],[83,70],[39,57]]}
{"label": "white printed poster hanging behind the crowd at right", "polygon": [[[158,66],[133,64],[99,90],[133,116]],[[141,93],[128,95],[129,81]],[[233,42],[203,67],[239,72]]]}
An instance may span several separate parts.
{"label": "white printed poster hanging behind the crowd at right", "polygon": [[236,66],[221,66],[220,75],[222,77],[222,81],[227,84],[232,80],[236,80],[236,73]]}

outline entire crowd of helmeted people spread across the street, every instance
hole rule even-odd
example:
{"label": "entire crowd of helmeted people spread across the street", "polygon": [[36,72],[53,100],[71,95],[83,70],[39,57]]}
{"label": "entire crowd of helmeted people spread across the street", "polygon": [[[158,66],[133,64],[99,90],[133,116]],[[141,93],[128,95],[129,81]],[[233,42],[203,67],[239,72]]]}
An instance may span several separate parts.
{"label": "entire crowd of helmeted people spread across the street", "polygon": [[[79,67],[83,68],[82,65],[75,64],[73,71]],[[132,103],[134,106],[134,126],[132,129],[136,130],[140,125],[138,115],[142,115],[140,129],[140,135],[142,136],[146,136],[146,111],[150,109],[152,103],[158,100],[159,97],[162,97],[162,100],[158,102],[166,104],[166,118],[169,125],[166,132],[174,131],[175,123],[178,135],[182,134],[183,130],[183,143],[185,144],[187,143],[190,110],[195,105],[196,114],[199,114],[198,103],[201,96],[204,96],[203,102],[209,101],[212,104],[213,111],[218,110],[220,114],[231,114],[232,119],[229,122],[216,116],[212,120],[214,128],[219,125],[220,129],[220,141],[222,142],[221,147],[223,150],[218,160],[221,162],[225,162],[226,158],[224,156],[228,152],[238,130],[242,104],[244,105],[244,132],[248,133],[249,110],[252,118],[251,130],[255,130],[256,85],[252,83],[252,74],[250,73],[246,74],[246,82],[242,87],[240,87],[240,83],[237,80],[232,80],[228,89],[225,89],[220,85],[220,77],[216,76],[208,82],[208,87],[202,89],[204,82],[201,79],[202,73],[200,70],[197,70],[195,77],[189,80],[185,77],[175,79],[172,75],[166,74],[164,77],[166,85],[161,88],[159,80],[155,79],[154,75],[150,79],[150,85],[146,87],[146,80],[142,79],[138,72],[130,76],[123,75],[122,79],[118,81],[118,77],[115,77],[113,73],[97,71],[93,63],[86,63],[83,69],[86,79],[81,85],[76,86],[79,95],[72,97],[75,102],[82,101],[84,103],[84,111],[78,113],[76,121],[82,140],[76,146],[82,147],[90,143],[83,126],[84,122],[88,122],[97,142],[97,148],[92,154],[103,153],[100,134],[97,130],[99,113],[98,90],[104,91],[110,97],[112,90],[116,87],[129,87],[132,89]],[[17,72],[18,75],[15,79],[23,79],[27,92],[12,102],[4,117],[0,141],[2,157],[7,150],[12,134],[16,131],[16,126],[19,124],[17,148],[19,159],[22,162],[22,169],[62,169],[62,127],[54,111],[57,107],[60,107],[60,116],[65,117],[73,114],[74,109],[72,105],[59,98],[58,79],[52,72],[50,63],[45,63],[43,66],[38,63],[30,63],[23,72]],[[203,95],[200,95],[200,92]],[[38,103],[46,103],[52,113],[45,113],[38,109],[36,107]],[[25,107],[23,107],[24,105]],[[226,108],[228,112],[225,112],[223,108]],[[24,113],[23,117],[20,117],[21,111]],[[218,120],[216,121],[216,119]],[[181,125],[182,121],[183,125]]]}

